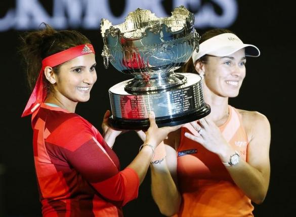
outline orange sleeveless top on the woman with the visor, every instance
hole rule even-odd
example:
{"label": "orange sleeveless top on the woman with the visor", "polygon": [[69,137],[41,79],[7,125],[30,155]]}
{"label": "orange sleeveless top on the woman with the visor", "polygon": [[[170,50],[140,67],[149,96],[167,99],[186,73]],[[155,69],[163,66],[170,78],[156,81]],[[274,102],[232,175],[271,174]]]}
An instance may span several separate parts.
{"label": "orange sleeveless top on the woman with the visor", "polygon": [[[219,128],[226,141],[246,159],[247,136],[235,108],[229,106],[228,120]],[[218,155],[186,138],[185,132],[196,131],[190,124],[182,127],[177,150],[182,202],[175,216],[253,216],[250,199],[235,185]]]}

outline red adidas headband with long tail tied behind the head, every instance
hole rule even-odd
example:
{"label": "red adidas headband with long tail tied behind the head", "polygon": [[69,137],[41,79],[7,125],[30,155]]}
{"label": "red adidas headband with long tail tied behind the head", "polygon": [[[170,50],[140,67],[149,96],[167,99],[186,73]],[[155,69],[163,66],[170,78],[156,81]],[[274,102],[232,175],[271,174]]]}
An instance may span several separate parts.
{"label": "red adidas headband with long tail tied behind the head", "polygon": [[69,60],[72,60],[76,57],[90,54],[90,53],[95,54],[95,50],[93,46],[91,44],[85,44],[85,45],[78,45],[76,47],[69,48],[67,50],[61,51],[59,53],[56,53],[49,57],[44,58],[42,61],[42,68],[39,72],[39,76],[36,81],[34,90],[27,102],[27,105],[25,110],[23,111],[22,117],[32,114],[40,106],[40,104],[44,102],[47,96],[47,91],[45,90],[44,83],[43,83],[43,76],[44,76],[43,71],[46,66],[55,67]]}

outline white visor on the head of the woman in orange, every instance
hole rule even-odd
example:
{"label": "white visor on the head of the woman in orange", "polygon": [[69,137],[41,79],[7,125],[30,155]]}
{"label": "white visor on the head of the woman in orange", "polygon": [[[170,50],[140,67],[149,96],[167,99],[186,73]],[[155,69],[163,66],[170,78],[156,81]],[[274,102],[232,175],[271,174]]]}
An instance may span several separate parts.
{"label": "white visor on the head of the woman in orange", "polygon": [[258,57],[260,51],[256,46],[243,44],[233,33],[223,33],[203,41],[199,45],[199,52],[192,54],[193,63],[202,56],[208,54],[217,57],[224,57],[245,48],[245,56]]}

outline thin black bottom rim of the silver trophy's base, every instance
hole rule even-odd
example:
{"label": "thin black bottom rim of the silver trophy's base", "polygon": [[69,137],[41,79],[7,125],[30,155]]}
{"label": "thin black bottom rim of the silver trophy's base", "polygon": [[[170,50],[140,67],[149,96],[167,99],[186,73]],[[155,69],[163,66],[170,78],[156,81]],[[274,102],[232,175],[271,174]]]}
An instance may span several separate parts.
{"label": "thin black bottom rim of the silver trophy's base", "polygon": [[[190,113],[190,114],[183,114],[183,115],[172,115],[172,116],[165,116],[165,117],[156,117],[156,124],[158,127],[163,126],[175,126],[184,123],[189,123],[194,120],[198,120],[200,118],[205,117],[210,113],[209,105],[205,104],[203,108]],[[148,129],[150,126],[149,119],[123,119],[123,118],[116,118],[113,115],[110,116],[108,123],[113,128],[118,129]]]}

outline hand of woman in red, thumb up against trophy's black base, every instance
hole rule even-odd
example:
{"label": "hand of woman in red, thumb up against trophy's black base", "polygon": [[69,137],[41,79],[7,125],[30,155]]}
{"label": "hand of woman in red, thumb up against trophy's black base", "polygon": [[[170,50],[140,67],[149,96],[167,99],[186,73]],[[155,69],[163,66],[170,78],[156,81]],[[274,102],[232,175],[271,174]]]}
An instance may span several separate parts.
{"label": "hand of woman in red, thumb up against trophy's black base", "polygon": [[177,126],[164,126],[164,127],[158,128],[155,121],[154,112],[150,112],[149,121],[150,121],[150,127],[145,132],[146,140],[144,144],[150,144],[154,148],[156,148],[167,137],[169,133],[176,131],[181,126],[183,126],[182,124]]}

